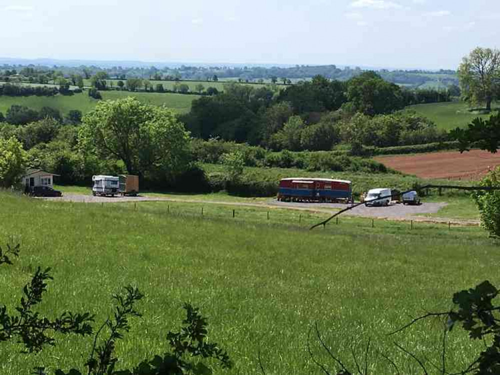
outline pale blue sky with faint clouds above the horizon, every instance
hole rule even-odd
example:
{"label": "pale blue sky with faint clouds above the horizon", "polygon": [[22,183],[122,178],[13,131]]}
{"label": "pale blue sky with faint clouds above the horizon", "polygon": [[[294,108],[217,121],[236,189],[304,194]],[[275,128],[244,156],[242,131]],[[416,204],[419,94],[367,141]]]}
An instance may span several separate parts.
{"label": "pale blue sky with faint clouds above the horizon", "polygon": [[0,57],[455,69],[499,0],[0,0]]}

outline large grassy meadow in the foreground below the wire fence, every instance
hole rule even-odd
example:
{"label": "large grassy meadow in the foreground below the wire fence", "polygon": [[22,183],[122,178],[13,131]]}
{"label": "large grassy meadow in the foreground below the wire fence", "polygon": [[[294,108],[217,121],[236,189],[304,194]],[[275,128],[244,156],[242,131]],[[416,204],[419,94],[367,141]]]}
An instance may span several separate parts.
{"label": "large grassy meadow in the foreground below the wire fence", "polygon": [[[194,203],[141,202],[105,205],[30,199],[0,192],[0,243],[14,236],[22,253],[0,269],[0,301],[12,311],[37,266],[53,268],[41,312],[67,309],[111,312],[111,294],[123,285],[141,288],[143,317],[117,344],[117,368],[167,350],[189,301],[209,319],[210,339],[226,348],[236,367],[216,373],[258,374],[258,353],[269,374],[317,374],[306,350],[309,327],[318,322],[335,353],[354,371],[372,340],[370,373],[388,373],[379,351],[406,374],[421,373],[394,348],[395,340],[421,358],[439,362],[441,325],[426,321],[404,333],[386,333],[427,310],[448,309],[452,293],[484,279],[500,283],[497,243],[478,227],[448,231],[442,225],[342,217],[326,229],[307,226],[326,213],[211,205],[201,216]],[[167,213],[169,208],[170,213]],[[35,219],[36,218],[36,219]],[[29,373],[45,364],[83,368],[92,337],[58,336],[41,354],[21,354],[2,343],[0,373]],[[312,350],[327,362],[317,343]],[[482,348],[459,329],[449,336],[448,370],[463,368]],[[332,370],[333,371],[333,370]],[[333,373],[335,373],[333,371]]]}

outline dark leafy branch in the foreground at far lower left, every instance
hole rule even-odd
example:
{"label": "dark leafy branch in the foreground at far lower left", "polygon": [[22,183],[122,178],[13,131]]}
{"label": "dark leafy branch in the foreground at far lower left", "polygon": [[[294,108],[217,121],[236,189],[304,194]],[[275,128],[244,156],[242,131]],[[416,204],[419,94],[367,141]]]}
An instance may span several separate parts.
{"label": "dark leafy branch in the foreground at far lower left", "polygon": [[[16,246],[19,253],[19,246]],[[89,313],[64,312],[58,318],[50,319],[34,311],[34,307],[42,302],[47,291],[47,280],[51,280],[50,268],[39,267],[31,282],[26,284],[17,314],[10,315],[7,306],[0,306],[0,342],[18,338],[29,352],[38,352],[44,345],[55,345],[54,337],[49,333],[76,333],[82,336],[92,333],[90,322],[93,316]]]}

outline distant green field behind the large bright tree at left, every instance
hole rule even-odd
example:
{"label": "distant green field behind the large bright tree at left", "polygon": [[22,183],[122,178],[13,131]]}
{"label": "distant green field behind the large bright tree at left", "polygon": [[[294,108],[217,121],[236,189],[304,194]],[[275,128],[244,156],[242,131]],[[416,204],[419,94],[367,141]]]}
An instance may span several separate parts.
{"label": "distant green field behind the large bright tree at left", "polygon": [[[137,97],[139,100],[155,105],[165,104],[179,113],[189,112],[191,102],[198,95],[182,95],[176,93],[146,93],[127,91],[102,91],[103,99],[119,99],[127,96]],[[26,105],[30,108],[40,110],[44,106],[58,109],[62,114],[72,109],[79,109],[84,114],[92,110],[97,100],[88,96],[86,91],[74,95],[56,96],[0,96],[0,112],[4,114],[11,105]]]}

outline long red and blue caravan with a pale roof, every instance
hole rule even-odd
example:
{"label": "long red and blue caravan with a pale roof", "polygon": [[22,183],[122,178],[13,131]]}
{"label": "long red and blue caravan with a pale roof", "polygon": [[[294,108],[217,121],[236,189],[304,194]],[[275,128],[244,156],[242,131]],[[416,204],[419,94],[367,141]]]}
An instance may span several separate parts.
{"label": "long red and blue caravan with a pale roof", "polygon": [[291,202],[352,202],[352,182],[331,178],[283,178],[278,200]]}

